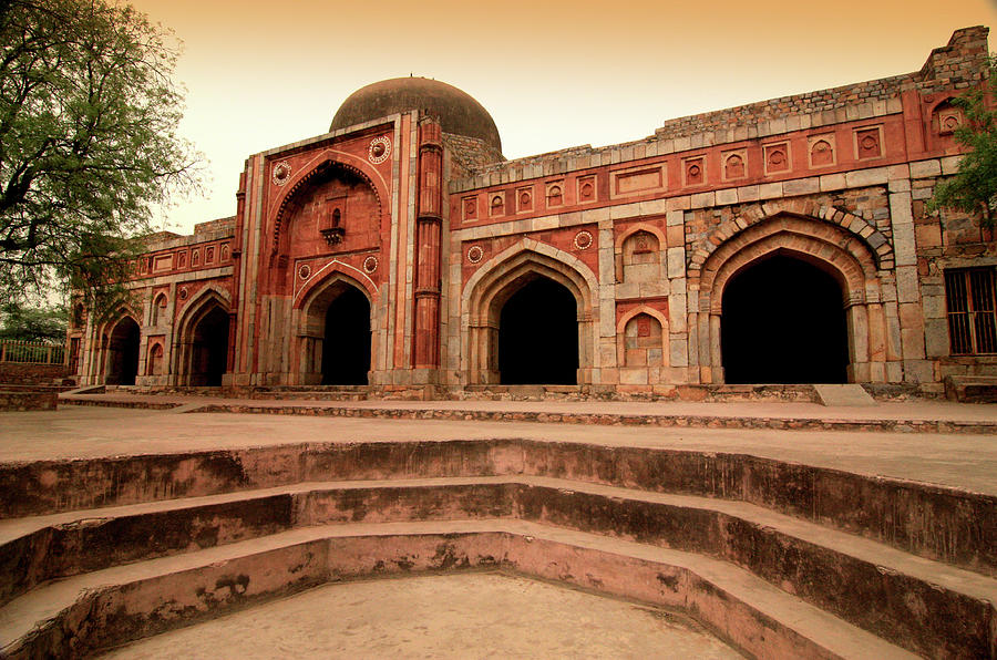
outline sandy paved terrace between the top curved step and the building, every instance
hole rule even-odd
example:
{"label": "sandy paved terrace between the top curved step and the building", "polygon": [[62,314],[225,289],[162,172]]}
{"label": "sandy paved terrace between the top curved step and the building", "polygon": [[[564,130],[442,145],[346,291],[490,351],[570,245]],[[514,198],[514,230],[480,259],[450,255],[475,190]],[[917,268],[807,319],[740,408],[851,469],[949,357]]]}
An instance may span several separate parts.
{"label": "sandy paved terrace between the top curved step and the building", "polygon": [[[157,398],[158,399],[158,398]],[[308,402],[309,404],[315,402]],[[358,402],[370,403],[370,402]],[[390,402],[391,405],[402,402]],[[433,402],[433,405],[471,402]],[[479,405],[513,403],[474,402]],[[523,402],[551,410],[582,403]],[[409,405],[419,405],[409,403]],[[425,405],[425,404],[423,404]],[[812,404],[602,404],[592,406],[728,406],[728,414],[792,414]],[[953,404],[905,405],[906,414],[942,410],[997,417],[997,406]],[[813,406],[823,409],[823,406]],[[876,406],[878,409],[880,406]],[[698,410],[698,409],[693,409]],[[828,414],[836,410],[823,409]],[[867,409],[862,409],[867,410]],[[888,409],[886,409],[888,411]],[[886,414],[884,411],[882,414]],[[278,416],[233,413],[186,413],[61,405],[54,412],[0,414],[0,461],[96,457],[168,453],[189,450],[289,444],[301,442],[404,441],[522,437],[592,442],[605,445],[672,447],[747,453],[762,457],[944,484],[997,495],[997,435],[872,433],[841,431],[773,431],[737,429],[658,429],[526,422],[455,422],[356,417]]]}

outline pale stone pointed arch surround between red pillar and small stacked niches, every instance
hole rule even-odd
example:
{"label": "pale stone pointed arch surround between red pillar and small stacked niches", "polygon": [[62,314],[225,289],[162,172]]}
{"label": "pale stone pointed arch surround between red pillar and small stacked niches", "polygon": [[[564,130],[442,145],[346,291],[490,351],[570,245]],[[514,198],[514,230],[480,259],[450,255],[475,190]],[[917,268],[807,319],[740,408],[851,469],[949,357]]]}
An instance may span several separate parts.
{"label": "pale stone pointed arch surround between red pillar and small stacked niches", "polygon": [[471,276],[461,296],[462,363],[470,383],[498,382],[498,320],[502,307],[523,286],[547,278],[575,298],[578,321],[577,382],[592,381],[599,322],[598,280],[580,259],[530,238],[510,246]]}

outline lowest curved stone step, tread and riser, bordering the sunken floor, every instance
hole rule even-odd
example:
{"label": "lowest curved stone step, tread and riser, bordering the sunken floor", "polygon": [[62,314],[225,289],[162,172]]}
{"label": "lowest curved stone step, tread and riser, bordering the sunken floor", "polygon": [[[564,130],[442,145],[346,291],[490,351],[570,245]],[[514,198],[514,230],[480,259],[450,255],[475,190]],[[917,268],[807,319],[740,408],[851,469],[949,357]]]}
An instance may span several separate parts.
{"label": "lowest curved stone step, tread and riser, bordering the sunken floor", "polygon": [[523,520],[306,527],[68,578],[0,609],[0,652],[123,643],[328,580],[502,567],[693,616],[760,658],[911,658],[726,561]]}

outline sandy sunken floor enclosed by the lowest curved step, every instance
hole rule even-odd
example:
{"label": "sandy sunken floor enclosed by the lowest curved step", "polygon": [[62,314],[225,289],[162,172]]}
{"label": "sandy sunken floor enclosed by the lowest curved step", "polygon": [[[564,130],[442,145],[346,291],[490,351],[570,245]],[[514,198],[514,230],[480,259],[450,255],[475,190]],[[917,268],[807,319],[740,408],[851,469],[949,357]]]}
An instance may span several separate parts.
{"label": "sandy sunken floor enclosed by the lowest curved step", "polygon": [[319,587],[104,658],[741,656],[699,625],[659,609],[518,576],[455,574]]}

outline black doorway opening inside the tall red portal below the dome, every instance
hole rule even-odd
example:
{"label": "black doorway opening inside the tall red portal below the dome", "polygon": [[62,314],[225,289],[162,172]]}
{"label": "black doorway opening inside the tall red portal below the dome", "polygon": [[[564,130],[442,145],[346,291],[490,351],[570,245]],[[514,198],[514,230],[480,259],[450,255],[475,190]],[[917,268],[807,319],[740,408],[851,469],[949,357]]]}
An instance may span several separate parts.
{"label": "black doorway opening inside the tall red portal below the dome", "polygon": [[326,311],[322,384],[366,385],[370,370],[370,302],[346,287]]}

